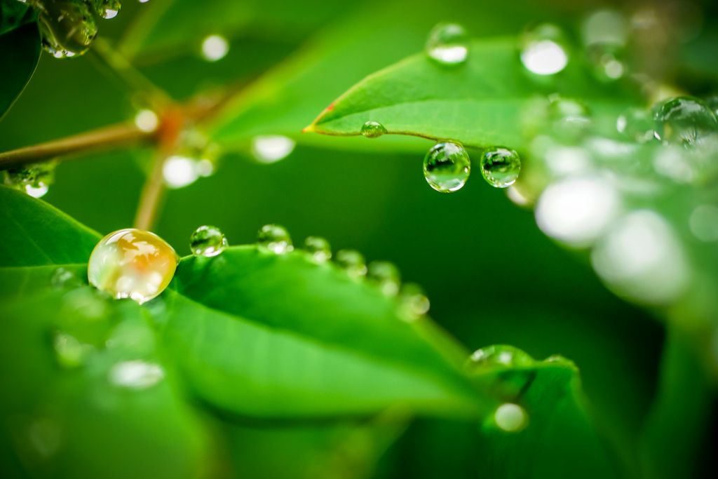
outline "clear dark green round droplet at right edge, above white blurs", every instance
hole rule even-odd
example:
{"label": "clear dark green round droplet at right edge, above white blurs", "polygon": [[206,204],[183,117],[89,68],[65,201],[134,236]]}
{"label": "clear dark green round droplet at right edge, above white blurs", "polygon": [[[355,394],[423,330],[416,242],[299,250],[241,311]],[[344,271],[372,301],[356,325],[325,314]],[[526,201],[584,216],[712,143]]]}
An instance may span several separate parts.
{"label": "clear dark green round droplet at right edge, above white blurs", "polygon": [[658,137],[667,143],[692,147],[718,133],[718,118],[698,98],[681,96],[656,108]]}

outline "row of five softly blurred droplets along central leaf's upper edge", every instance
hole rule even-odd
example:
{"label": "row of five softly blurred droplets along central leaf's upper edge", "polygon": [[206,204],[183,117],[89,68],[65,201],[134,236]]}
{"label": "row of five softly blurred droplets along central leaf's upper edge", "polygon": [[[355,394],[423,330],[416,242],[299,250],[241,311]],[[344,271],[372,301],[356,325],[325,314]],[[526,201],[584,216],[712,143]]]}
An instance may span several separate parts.
{"label": "row of five softly blurred droplets along central leaf's upper edge", "polygon": [[[292,238],[280,225],[264,225],[257,233],[257,248],[269,254],[284,255],[294,251]],[[325,264],[330,259],[355,282],[366,282],[381,294],[396,298],[398,312],[407,321],[414,321],[429,311],[429,299],[417,284],[401,283],[398,268],[388,261],[371,261],[367,264],[363,254],[352,249],[342,249],[332,254],[332,247],[325,238],[309,236],[304,240],[302,253],[314,264]]]}

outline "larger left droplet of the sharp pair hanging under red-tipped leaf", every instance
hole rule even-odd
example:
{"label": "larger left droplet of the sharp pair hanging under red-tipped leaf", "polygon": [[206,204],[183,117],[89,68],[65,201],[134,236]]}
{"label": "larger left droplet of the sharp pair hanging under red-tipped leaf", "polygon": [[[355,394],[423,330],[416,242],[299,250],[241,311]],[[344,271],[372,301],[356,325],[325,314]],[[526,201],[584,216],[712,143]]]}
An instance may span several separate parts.
{"label": "larger left droplet of the sharp pair hanging under red-tipped leaf", "polygon": [[434,190],[460,190],[469,179],[471,162],[466,150],[455,143],[434,145],[424,157],[424,177]]}

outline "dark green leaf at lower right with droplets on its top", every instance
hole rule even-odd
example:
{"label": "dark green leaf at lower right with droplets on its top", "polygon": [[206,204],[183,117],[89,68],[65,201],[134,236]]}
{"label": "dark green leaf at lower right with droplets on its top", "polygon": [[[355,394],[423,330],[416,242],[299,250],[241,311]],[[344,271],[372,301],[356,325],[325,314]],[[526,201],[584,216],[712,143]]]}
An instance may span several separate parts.
{"label": "dark green leaf at lower right with droplets on its top", "polygon": [[620,477],[592,420],[578,369],[562,358],[531,362],[493,366],[493,374],[481,378],[528,417],[525,427],[513,432],[498,427],[499,412],[485,420],[478,470],[495,479]]}

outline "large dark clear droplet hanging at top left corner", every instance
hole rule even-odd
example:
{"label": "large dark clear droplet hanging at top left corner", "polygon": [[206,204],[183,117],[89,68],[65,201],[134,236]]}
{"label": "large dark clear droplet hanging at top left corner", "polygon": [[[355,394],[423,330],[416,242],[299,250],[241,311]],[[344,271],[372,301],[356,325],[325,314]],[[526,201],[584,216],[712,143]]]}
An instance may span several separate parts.
{"label": "large dark clear droplet hanging at top left corner", "polygon": [[93,9],[85,1],[36,2],[42,47],[55,58],[83,55],[97,34]]}

